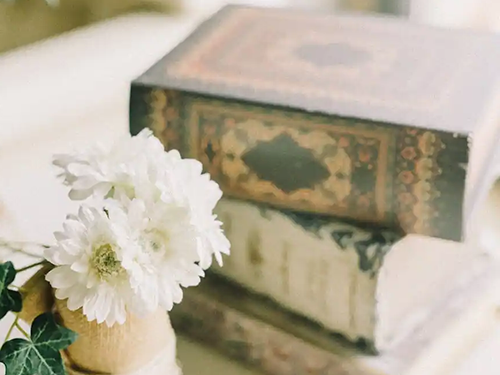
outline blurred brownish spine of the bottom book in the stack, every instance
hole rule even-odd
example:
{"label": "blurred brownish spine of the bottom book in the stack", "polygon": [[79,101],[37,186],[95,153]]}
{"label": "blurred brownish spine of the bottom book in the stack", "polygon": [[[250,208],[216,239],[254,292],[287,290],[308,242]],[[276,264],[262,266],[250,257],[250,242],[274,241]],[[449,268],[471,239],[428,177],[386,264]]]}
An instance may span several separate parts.
{"label": "blurred brownish spine of the bottom book in the stack", "polygon": [[382,375],[354,357],[310,344],[196,289],[185,291],[170,318],[177,333],[269,375]]}

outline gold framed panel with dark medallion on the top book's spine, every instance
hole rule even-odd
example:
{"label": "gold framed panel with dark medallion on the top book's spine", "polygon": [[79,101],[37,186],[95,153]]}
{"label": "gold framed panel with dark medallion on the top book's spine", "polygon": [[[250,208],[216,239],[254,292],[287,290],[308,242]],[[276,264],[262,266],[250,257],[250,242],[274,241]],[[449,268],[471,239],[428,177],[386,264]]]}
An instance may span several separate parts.
{"label": "gold framed panel with dark medallion on the top book's spine", "polygon": [[[377,131],[342,119],[264,112],[252,106],[200,99],[191,101],[186,113],[189,114],[185,121],[190,133],[190,156],[202,161],[227,194],[251,197],[282,208],[309,210],[313,206],[317,212],[343,217],[388,220],[392,207],[385,193],[391,181],[387,169],[393,148],[390,145],[393,129]],[[271,157],[283,160],[283,171],[276,168],[274,176],[263,179],[245,156],[262,144],[277,146],[278,142],[274,141],[281,136],[289,137],[296,147],[292,144],[288,155],[284,155],[286,149],[274,152]],[[293,173],[295,169],[288,164],[294,161],[293,153],[302,150],[310,151],[327,171],[327,177],[293,191],[278,187],[275,182],[278,175]],[[256,157],[265,158],[265,155]],[[262,163],[271,164],[273,160]],[[308,163],[296,178],[306,179],[306,170],[314,166],[315,163]],[[357,183],[356,178],[367,186]],[[308,185],[307,182],[304,181],[304,185]]]}

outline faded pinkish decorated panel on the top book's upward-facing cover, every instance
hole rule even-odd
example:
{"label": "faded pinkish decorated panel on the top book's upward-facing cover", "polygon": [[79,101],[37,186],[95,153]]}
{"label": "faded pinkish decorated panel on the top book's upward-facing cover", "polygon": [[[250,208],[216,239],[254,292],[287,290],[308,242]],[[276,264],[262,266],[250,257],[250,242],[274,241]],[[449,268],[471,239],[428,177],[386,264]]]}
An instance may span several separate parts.
{"label": "faded pinkish decorated panel on the top book's upward-facing cover", "polygon": [[[474,38],[393,19],[332,19],[233,8],[192,36],[189,46],[174,51],[175,58],[162,67],[161,75],[181,85],[216,85],[234,92],[271,90],[277,96],[305,96],[310,103],[370,105],[386,112],[411,111],[423,118],[449,107],[465,73],[473,69],[471,50],[476,51],[476,44]],[[364,58],[318,64],[311,61],[310,52],[300,53],[308,46],[326,54],[334,48],[332,56],[349,56],[352,51]],[[448,61],[452,68],[442,69]]]}

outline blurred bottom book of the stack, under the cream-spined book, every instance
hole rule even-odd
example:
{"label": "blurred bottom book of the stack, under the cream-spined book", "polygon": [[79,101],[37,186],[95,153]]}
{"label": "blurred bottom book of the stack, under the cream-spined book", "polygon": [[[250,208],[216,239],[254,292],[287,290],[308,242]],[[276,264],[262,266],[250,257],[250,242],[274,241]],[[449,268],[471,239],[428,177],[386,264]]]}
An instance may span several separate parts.
{"label": "blurred bottom book of the stack, under the cream-spined book", "polygon": [[185,291],[171,319],[178,333],[271,375],[448,375],[498,319],[496,275],[462,285],[380,355],[212,274]]}

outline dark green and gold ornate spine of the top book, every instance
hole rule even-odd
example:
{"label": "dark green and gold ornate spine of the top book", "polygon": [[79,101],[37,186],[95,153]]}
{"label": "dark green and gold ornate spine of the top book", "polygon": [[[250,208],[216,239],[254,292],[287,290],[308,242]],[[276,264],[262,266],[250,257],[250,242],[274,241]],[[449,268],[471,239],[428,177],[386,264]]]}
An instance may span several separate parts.
{"label": "dark green and gold ornate spine of the top book", "polygon": [[130,129],[144,127],[228,196],[462,239],[466,137],[136,84]]}

